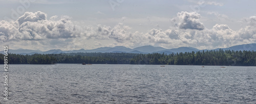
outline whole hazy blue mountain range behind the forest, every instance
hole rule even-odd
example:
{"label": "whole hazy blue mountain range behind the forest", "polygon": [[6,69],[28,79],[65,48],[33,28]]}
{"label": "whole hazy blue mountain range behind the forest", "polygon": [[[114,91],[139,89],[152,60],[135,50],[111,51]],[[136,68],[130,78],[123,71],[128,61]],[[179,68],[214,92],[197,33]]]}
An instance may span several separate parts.
{"label": "whole hazy blue mountain range behind the forest", "polygon": [[[256,43],[252,44],[242,44],[242,45],[236,45],[231,46],[227,48],[217,48],[217,49],[210,49],[210,50],[256,50]],[[208,49],[203,49],[208,50]],[[51,49],[48,51],[41,51],[41,50],[30,50],[30,49],[9,49],[9,53],[12,54],[22,54],[22,55],[32,55],[32,54],[60,54],[60,53],[135,53],[135,54],[148,54],[148,53],[166,53],[166,54],[172,54],[172,53],[184,53],[184,52],[191,52],[191,51],[202,51],[200,49],[194,48],[194,47],[179,47],[179,48],[172,48],[172,49],[166,49],[163,47],[154,47],[151,45],[145,45],[136,47],[134,49],[127,48],[124,46],[115,46],[115,47],[100,47],[96,49],[79,49],[79,50],[60,50],[60,49]],[[4,51],[0,51],[2,54]]]}

